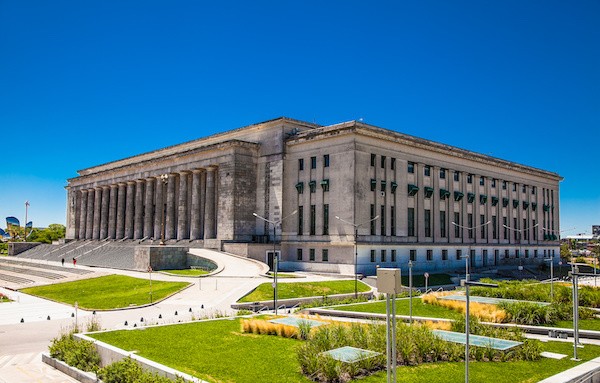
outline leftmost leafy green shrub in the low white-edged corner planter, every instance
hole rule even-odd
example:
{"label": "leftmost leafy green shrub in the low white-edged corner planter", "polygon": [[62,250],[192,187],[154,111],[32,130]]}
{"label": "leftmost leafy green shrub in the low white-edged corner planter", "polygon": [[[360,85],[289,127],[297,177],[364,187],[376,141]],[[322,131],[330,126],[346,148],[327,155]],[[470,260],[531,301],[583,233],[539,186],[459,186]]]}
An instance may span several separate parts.
{"label": "leftmost leafy green shrub in the low white-edged corner planter", "polygon": [[82,371],[96,372],[100,367],[100,355],[93,342],[76,340],[73,333],[63,333],[52,340],[49,346],[50,356],[62,360],[69,366]]}

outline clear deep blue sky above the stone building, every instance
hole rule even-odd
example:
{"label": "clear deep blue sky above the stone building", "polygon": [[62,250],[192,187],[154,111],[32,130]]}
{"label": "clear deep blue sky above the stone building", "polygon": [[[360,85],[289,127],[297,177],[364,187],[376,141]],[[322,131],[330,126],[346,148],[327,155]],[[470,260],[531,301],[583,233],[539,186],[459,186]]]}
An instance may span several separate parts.
{"label": "clear deep blue sky above the stone building", "polygon": [[564,177],[600,224],[600,2],[0,0],[0,223],[93,165],[288,116]]}

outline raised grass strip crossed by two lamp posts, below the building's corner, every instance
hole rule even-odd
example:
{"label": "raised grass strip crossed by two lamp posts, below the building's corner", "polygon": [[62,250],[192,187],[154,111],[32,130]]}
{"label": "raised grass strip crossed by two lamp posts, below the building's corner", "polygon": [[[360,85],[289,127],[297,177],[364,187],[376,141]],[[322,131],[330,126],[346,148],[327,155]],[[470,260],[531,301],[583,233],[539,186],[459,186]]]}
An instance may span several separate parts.
{"label": "raised grass strip crossed by two lamp posts, below the building's corner", "polygon": [[[358,291],[366,292],[371,288],[358,282]],[[353,280],[325,281],[325,282],[290,282],[277,284],[277,298],[306,298],[322,297],[334,294],[350,294],[354,292]],[[238,302],[260,302],[273,299],[273,285],[263,283],[250,294],[242,297]]]}

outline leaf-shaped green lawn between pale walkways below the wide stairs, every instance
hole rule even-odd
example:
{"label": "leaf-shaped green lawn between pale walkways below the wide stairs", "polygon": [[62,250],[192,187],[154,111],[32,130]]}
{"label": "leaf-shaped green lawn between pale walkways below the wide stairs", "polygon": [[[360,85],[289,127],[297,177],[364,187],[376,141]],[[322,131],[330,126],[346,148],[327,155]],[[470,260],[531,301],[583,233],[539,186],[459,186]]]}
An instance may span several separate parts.
{"label": "leaf-shaped green lawn between pale walkways below the wide stairs", "polygon": [[[188,285],[187,282],[152,281],[152,302],[163,299]],[[124,275],[108,275],[29,287],[21,291],[70,305],[77,302],[80,308],[87,310],[111,310],[151,303],[149,280]]]}

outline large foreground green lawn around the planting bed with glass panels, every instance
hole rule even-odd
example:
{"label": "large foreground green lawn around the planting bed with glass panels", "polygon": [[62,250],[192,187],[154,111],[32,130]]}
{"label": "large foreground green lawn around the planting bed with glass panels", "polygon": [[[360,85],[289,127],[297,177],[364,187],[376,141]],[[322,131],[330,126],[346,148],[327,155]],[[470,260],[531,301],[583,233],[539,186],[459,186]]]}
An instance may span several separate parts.
{"label": "large foreground green lawn around the planting bed with glass panels", "polygon": [[[300,374],[296,358],[299,340],[240,332],[239,319],[194,322],[92,334],[93,338],[165,364],[209,382],[311,382]],[[165,340],[169,351],[165,352]],[[572,345],[542,343],[544,351],[566,354],[562,360],[535,362],[471,362],[472,382],[533,383],[577,365],[570,360]],[[582,362],[600,354],[600,347],[578,350]],[[580,362],[580,363],[582,363]],[[464,363],[434,363],[399,367],[398,382],[447,383],[464,380]],[[383,383],[385,371],[360,382]]]}

